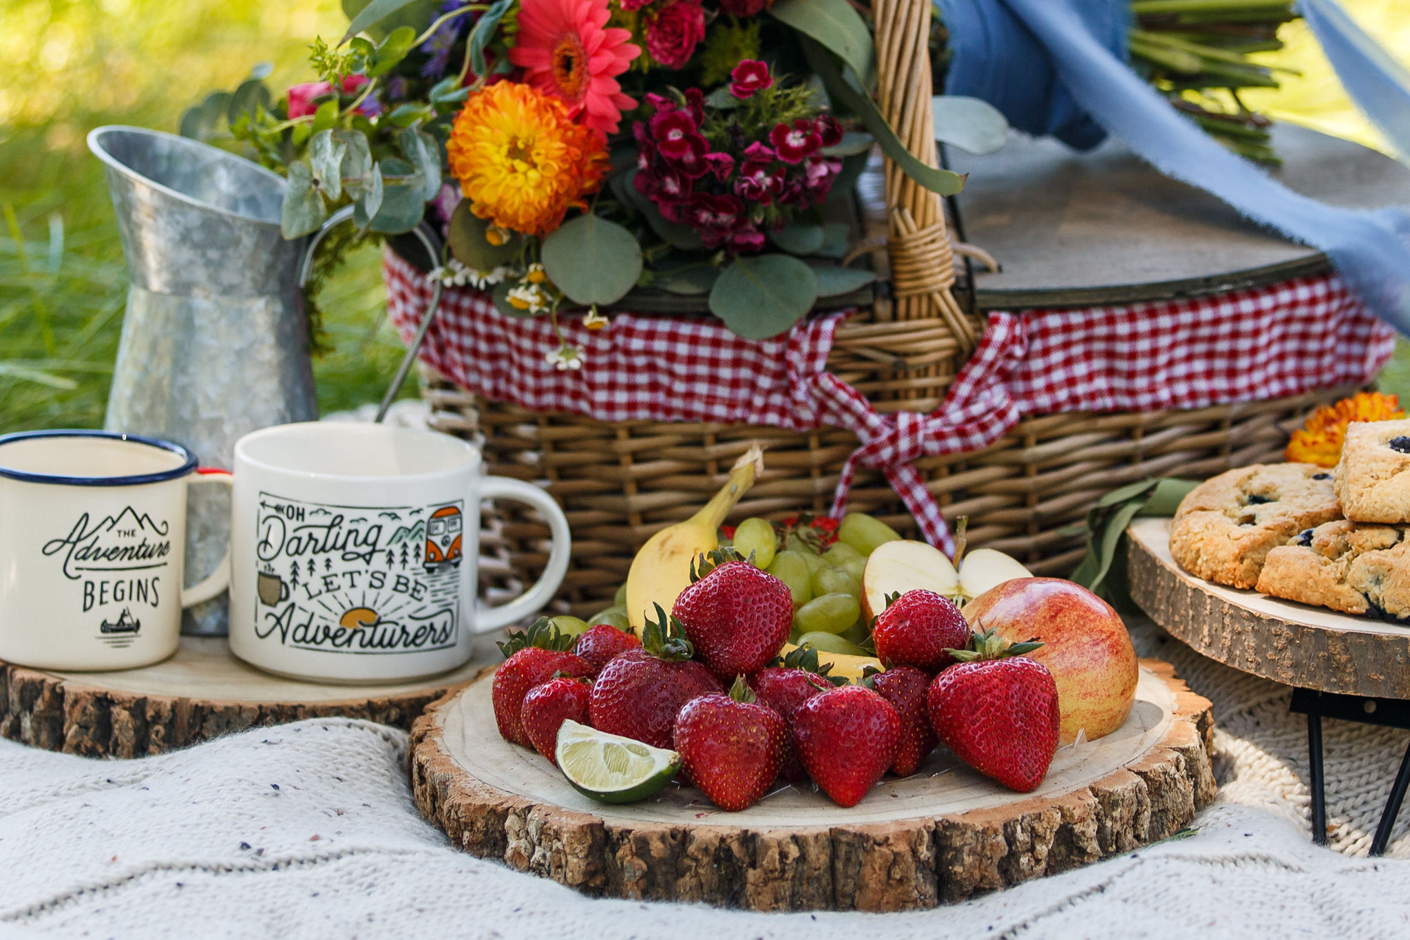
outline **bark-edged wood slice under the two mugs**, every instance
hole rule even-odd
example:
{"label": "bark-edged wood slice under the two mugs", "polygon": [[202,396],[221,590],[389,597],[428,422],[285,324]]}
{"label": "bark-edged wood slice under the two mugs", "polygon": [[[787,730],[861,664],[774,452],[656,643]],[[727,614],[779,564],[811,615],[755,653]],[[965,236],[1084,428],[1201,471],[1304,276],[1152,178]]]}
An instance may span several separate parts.
{"label": "bark-edged wood slice under the two mugs", "polygon": [[409,729],[488,660],[393,685],[319,685],[245,665],[224,637],[182,637],[138,669],[56,672],[0,662],[0,737],[89,757],[141,757],[259,724],[357,717]]}

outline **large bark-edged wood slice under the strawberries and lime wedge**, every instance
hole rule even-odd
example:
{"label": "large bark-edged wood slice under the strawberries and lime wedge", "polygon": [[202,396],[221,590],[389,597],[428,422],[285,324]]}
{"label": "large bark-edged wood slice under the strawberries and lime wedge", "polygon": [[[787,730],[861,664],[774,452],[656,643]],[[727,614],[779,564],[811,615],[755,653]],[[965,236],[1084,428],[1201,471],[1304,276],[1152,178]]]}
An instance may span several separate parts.
{"label": "large bark-edged wood slice under the strawberries and lime wedge", "polygon": [[492,674],[412,729],[412,791],[453,844],[578,891],[754,910],[902,910],[1084,865],[1184,827],[1214,798],[1210,703],[1142,661],[1136,705],[1012,793],[943,748],[842,809],[783,786],[729,813],[675,784],[606,806],[495,729]]}

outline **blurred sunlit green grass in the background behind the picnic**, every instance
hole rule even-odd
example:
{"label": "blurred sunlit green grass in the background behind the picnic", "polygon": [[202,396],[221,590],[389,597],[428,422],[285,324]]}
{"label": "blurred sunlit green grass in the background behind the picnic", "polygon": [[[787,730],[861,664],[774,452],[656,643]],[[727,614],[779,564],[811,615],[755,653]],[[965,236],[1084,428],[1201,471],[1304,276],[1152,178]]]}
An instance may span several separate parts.
{"label": "blurred sunlit green grass in the background behind the picnic", "polygon": [[[1376,35],[1410,37],[1402,0],[1349,0]],[[343,25],[337,0],[0,0],[0,431],[103,423],[127,273],[99,162],[100,124],[175,130],[182,109],[261,59],[274,87],[307,80],[305,45]],[[1308,78],[1258,107],[1375,142],[1320,52],[1293,35]],[[1403,45],[1403,44],[1397,44]],[[378,400],[402,354],[378,255],[364,249],[320,295],[331,351],[314,359],[323,412]],[[1410,400],[1410,345],[1383,388]],[[409,381],[402,395],[415,393]]]}

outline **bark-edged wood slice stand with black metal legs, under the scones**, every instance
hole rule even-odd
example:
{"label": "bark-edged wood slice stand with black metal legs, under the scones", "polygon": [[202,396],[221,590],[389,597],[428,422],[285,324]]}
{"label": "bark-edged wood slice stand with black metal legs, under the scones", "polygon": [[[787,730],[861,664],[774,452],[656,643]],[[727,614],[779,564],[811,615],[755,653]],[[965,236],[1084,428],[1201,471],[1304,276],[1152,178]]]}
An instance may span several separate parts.
{"label": "bark-edged wood slice stand with black metal legs, under the scones", "polygon": [[[1313,841],[1327,841],[1323,717],[1410,729],[1410,627],[1354,617],[1210,583],[1170,557],[1170,520],[1127,528],[1131,599],[1165,630],[1211,660],[1293,686],[1307,716]],[[1371,854],[1385,853],[1410,788],[1410,748],[1386,799]]]}

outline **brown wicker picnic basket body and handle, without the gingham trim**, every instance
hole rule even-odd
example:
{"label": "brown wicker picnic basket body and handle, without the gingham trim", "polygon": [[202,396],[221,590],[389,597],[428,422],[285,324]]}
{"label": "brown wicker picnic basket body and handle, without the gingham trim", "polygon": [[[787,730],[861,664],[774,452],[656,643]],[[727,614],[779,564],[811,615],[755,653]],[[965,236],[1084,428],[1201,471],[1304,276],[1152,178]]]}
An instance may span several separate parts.
{"label": "brown wicker picnic basket body and handle, without the gingham trim", "polygon": [[[931,3],[877,0],[873,10],[877,100],[911,151],[936,165]],[[828,368],[883,414],[929,413],[974,351],[983,320],[963,311],[952,295],[955,248],[942,199],[888,161],[884,186],[873,189],[884,192],[873,193],[880,199],[862,214],[867,234],[885,235],[885,249],[873,261],[883,287],[870,309],[838,328]],[[914,466],[949,523],[969,517],[970,545],[1010,552],[1035,574],[1063,575],[1084,550],[1074,523],[1104,492],[1148,476],[1208,476],[1276,459],[1290,427],[1349,390],[1198,410],[1028,417],[981,451],[922,457]],[[532,412],[468,393],[430,371],[423,372],[423,396],[434,427],[482,438],[486,472],[540,481],[560,502],[574,544],[557,607],[580,616],[611,603],[640,544],[698,509],[752,443],[764,445],[767,469],[730,521],[828,512],[839,474],[859,445],[853,433],[836,428],[605,423]],[[849,509],[916,536],[880,472],[859,469]],[[547,526],[513,505],[488,513],[481,564],[488,595],[532,582],[547,558]]]}

